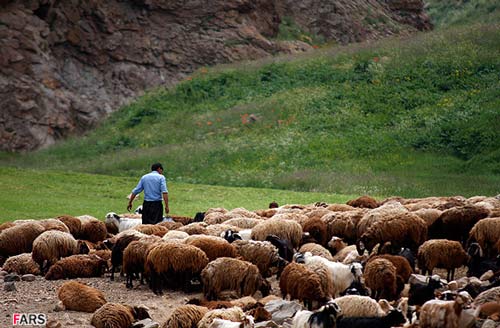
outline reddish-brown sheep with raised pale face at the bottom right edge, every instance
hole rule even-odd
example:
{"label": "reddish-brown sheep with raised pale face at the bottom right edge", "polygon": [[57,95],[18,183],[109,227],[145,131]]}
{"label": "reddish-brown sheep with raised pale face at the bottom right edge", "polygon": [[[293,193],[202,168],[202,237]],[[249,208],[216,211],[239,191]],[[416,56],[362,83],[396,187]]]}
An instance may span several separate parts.
{"label": "reddish-brown sheep with raised pale face at the bottom right edge", "polygon": [[467,300],[462,292],[454,301],[430,300],[420,309],[420,327],[422,328],[455,328],[459,326],[459,318]]}

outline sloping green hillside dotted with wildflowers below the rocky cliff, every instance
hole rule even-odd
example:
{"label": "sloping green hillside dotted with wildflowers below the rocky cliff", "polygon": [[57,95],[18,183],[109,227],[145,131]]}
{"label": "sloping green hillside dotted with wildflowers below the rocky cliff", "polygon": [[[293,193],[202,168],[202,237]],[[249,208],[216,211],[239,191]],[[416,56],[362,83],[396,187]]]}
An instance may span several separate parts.
{"label": "sloping green hillside dotted with wildflowers below the rocky cliff", "polygon": [[[95,131],[0,166],[338,194],[500,190],[500,29],[200,69]],[[265,200],[268,202],[268,199]]]}

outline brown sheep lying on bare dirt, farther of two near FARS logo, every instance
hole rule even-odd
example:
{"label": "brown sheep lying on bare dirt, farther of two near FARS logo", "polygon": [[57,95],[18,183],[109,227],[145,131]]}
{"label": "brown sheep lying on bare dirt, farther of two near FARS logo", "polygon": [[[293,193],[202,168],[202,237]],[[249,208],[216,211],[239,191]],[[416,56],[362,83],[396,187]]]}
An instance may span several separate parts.
{"label": "brown sheep lying on bare dirt, farther of two near FARS logo", "polygon": [[57,297],[67,310],[80,312],[92,313],[107,302],[103,292],[77,281],[62,284]]}

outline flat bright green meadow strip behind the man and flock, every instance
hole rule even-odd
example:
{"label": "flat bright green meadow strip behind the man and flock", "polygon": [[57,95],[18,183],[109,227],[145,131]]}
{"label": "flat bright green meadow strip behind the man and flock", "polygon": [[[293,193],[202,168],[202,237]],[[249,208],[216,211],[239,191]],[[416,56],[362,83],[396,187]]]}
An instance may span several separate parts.
{"label": "flat bright green meadow strip behind the man and flock", "polygon": [[[0,168],[0,223],[16,219],[43,219],[62,214],[89,214],[104,219],[108,212],[126,212],[125,196],[136,178],[74,172]],[[278,204],[309,204],[317,201],[345,203],[348,195],[301,193],[274,189],[230,188],[169,183],[171,214],[194,216],[210,207],[249,210]],[[350,198],[349,198],[350,197]],[[142,199],[136,206],[142,203]]]}

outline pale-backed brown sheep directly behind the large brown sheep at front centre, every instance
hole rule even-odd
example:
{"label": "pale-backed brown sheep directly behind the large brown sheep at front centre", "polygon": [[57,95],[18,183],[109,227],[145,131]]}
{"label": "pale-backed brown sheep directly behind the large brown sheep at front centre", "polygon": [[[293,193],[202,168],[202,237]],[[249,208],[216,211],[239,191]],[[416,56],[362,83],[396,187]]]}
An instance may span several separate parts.
{"label": "pale-backed brown sheep directly behind the large brown sheep at front centre", "polygon": [[278,249],[268,241],[235,240],[232,245],[245,261],[259,268],[263,277],[271,276],[271,269],[278,265]]}

